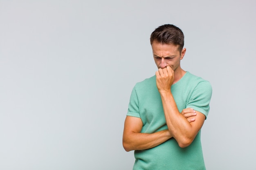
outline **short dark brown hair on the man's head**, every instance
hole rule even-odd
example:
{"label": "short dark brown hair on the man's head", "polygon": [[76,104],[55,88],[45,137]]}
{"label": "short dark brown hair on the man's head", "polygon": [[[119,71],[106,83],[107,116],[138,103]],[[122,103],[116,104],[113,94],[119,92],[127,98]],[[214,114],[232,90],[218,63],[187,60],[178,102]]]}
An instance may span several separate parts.
{"label": "short dark brown hair on the man's head", "polygon": [[181,52],[184,46],[184,34],[181,29],[175,25],[161,25],[150,35],[150,44],[152,45],[153,42],[179,45]]}

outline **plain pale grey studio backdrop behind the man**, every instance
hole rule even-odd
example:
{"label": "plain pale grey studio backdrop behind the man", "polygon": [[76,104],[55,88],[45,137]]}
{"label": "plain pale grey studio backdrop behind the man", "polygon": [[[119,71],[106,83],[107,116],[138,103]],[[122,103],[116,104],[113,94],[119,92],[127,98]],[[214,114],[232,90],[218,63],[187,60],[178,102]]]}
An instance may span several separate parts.
{"label": "plain pale grey studio backdrop behind the man", "polygon": [[207,170],[255,169],[255,16],[254,0],[0,0],[0,169],[131,170],[124,119],[162,24],[213,87]]}

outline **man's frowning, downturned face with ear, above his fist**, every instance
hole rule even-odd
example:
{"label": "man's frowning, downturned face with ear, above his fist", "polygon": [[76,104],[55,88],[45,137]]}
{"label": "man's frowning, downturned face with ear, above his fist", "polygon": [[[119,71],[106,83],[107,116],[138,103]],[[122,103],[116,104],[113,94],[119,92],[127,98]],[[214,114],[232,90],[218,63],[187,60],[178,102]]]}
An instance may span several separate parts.
{"label": "man's frowning, downturned face with ear, above his fist", "polygon": [[161,44],[158,42],[152,43],[153,57],[157,68],[170,66],[173,71],[180,69],[180,60],[185,55],[186,49],[180,53],[179,45]]}

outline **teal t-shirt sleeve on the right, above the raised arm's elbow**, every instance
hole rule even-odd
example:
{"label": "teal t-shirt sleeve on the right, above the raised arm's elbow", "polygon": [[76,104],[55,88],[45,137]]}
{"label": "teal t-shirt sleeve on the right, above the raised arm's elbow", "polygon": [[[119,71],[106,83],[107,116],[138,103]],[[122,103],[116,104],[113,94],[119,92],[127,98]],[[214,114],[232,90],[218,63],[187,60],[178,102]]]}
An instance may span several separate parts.
{"label": "teal t-shirt sleeve on the right, above the raised arm's elbow", "polygon": [[212,94],[212,87],[210,82],[204,81],[198,83],[198,85],[193,90],[189,102],[186,108],[193,108],[198,112],[205,115],[205,119],[208,116],[210,110],[210,100]]}

